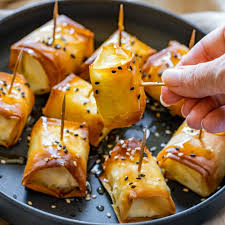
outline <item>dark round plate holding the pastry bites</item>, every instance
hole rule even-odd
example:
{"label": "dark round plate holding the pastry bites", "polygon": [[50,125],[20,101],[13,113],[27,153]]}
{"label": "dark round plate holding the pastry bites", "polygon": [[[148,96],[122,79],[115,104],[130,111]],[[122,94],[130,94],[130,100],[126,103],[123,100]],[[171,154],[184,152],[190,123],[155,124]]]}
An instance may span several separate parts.
{"label": "dark round plate holding the pastry bites", "polygon": [[[112,0],[67,0],[60,1],[60,13],[66,14],[74,20],[84,24],[94,31],[97,45],[103,42],[117,27],[117,14],[120,1]],[[125,6],[126,30],[145,43],[160,50],[167,46],[169,40],[176,39],[181,43],[188,44],[190,34],[194,27],[180,18],[153,8],[144,3],[123,1]],[[53,2],[40,3],[21,9],[0,21],[0,70],[8,71],[8,60],[10,45],[21,39],[35,28],[51,19]],[[196,28],[197,29],[197,28]],[[204,33],[197,29],[197,40]],[[10,149],[0,149],[0,154],[6,152],[11,157],[15,155],[26,157],[28,146],[27,136],[31,131],[33,123],[41,115],[41,107],[45,104],[48,96],[36,98],[36,106],[32,113],[32,120],[25,128],[21,142]],[[153,107],[152,107],[153,106]],[[156,111],[153,111],[155,108]],[[156,113],[161,117],[157,118]],[[148,126],[150,136],[147,141],[149,148],[156,147],[153,155],[162,149],[172,134],[166,134],[165,130],[174,131],[182,120],[171,117],[170,114],[160,106],[154,105],[153,101],[147,105],[143,119],[133,127],[117,129],[109,135],[99,149],[92,149],[89,160],[89,171],[108,144],[114,144],[115,139],[136,137],[142,138],[143,126]],[[167,132],[168,133],[168,132]],[[154,149],[153,148],[153,149]],[[91,195],[96,199],[86,201],[85,199],[74,199],[70,204],[65,200],[56,199],[41,193],[27,190],[21,185],[24,165],[6,164],[0,165],[0,217],[5,218],[13,225],[67,225],[67,224],[113,224],[117,223],[116,216],[111,207],[111,200],[106,192],[99,194],[98,187],[101,186],[95,175],[89,173],[88,180],[92,187]],[[138,224],[154,225],[186,225],[201,224],[204,219],[212,216],[215,212],[225,206],[224,181],[221,189],[211,197],[201,202],[201,198],[189,191],[183,192],[183,186],[169,182],[172,196],[177,207],[177,213],[162,219]],[[33,203],[32,206],[27,204]],[[55,209],[51,205],[56,205]],[[96,206],[103,205],[104,211],[99,211]],[[111,218],[107,217],[111,214]]]}

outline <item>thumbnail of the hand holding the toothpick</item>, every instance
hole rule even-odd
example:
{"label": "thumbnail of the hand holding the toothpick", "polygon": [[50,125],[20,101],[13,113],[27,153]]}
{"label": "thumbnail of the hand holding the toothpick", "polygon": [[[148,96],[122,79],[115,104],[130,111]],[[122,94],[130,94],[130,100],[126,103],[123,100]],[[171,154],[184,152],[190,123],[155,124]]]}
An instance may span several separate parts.
{"label": "thumbnail of the hand holding the toothpick", "polygon": [[162,80],[167,86],[179,86],[181,73],[180,69],[167,69],[162,75]]}

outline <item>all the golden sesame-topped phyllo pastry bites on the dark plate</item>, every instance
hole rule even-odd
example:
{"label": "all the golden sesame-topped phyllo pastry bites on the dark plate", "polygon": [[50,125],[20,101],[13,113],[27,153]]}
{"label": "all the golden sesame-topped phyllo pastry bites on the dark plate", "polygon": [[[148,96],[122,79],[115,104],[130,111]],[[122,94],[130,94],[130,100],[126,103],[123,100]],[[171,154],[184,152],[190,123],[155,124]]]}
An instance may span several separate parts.
{"label": "all the golden sesame-topped phyllo pastry bites on the dark plate", "polygon": [[[161,82],[189,49],[171,41],[156,53],[124,31],[120,7],[118,30],[93,53],[93,33],[57,15],[11,47],[14,76],[0,73],[0,144],[17,143],[34,94],[50,92],[32,130],[22,184],[58,198],[84,197],[90,144],[97,147],[112,129],[140,121],[145,92],[159,101],[161,91],[143,81]],[[181,105],[170,107],[172,113],[180,115]],[[225,136],[198,134],[184,122],[157,161],[135,138],[115,145],[99,179],[120,222],[175,213],[163,174],[200,196],[216,190],[225,176]]]}

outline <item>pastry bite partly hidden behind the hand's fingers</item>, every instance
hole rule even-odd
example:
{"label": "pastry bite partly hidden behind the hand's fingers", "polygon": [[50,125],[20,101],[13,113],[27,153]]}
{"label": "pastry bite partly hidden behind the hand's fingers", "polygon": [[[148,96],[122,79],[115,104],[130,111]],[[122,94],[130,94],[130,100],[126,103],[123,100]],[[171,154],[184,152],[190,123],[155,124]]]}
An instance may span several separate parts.
{"label": "pastry bite partly hidden behind the hand's fingers", "polygon": [[[144,82],[162,82],[161,76],[163,71],[175,67],[183,55],[187,54],[189,49],[180,44],[177,41],[170,41],[169,46],[166,49],[156,53],[155,55],[149,57],[148,61],[143,67],[143,81]],[[159,86],[147,86],[145,91],[149,96],[157,101],[160,101],[161,87]],[[169,106],[172,115],[181,115],[181,106],[183,105],[183,100],[175,105]]]}

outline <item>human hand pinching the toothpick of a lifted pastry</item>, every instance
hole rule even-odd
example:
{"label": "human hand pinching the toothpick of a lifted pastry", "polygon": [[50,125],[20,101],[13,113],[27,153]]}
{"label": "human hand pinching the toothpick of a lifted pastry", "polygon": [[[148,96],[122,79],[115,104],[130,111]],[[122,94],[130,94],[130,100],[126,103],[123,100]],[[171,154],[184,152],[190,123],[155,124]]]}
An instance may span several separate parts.
{"label": "human hand pinching the toothpick of a lifted pastry", "polygon": [[225,26],[209,33],[162,80],[163,104],[184,98],[181,112],[194,129],[225,131]]}

